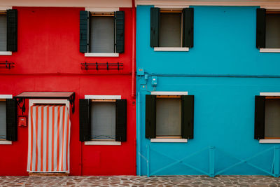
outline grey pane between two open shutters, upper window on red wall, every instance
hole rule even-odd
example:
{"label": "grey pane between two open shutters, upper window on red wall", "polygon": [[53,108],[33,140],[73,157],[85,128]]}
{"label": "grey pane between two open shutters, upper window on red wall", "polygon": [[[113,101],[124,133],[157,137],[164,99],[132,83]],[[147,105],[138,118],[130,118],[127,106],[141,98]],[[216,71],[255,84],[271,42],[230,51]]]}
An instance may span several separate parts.
{"label": "grey pane between two open shutters, upper window on red wall", "polygon": [[90,52],[114,53],[114,17],[92,16],[90,19]]}

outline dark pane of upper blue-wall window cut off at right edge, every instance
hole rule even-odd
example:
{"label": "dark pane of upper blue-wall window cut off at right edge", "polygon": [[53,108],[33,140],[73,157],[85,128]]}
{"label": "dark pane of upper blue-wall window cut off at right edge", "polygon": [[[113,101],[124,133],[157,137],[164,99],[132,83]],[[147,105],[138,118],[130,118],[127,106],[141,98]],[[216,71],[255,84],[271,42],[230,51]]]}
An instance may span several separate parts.
{"label": "dark pane of upper blue-wall window cut off at right edge", "polygon": [[280,48],[280,14],[266,15],[265,48]]}

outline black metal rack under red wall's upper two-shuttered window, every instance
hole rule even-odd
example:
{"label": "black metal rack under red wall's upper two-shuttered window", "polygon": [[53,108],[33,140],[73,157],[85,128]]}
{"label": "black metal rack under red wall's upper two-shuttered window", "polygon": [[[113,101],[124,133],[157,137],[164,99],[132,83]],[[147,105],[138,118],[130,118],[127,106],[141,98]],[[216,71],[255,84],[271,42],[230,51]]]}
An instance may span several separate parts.
{"label": "black metal rack under red wall's upper two-shuttered window", "polygon": [[80,63],[80,69],[82,70],[123,70],[123,63],[120,62],[106,62],[106,63],[89,63],[82,62]]}

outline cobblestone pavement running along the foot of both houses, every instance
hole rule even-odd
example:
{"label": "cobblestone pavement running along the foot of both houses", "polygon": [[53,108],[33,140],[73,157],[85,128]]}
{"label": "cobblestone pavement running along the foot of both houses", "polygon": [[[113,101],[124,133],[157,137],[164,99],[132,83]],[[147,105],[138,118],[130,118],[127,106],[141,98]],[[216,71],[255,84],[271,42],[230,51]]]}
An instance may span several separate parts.
{"label": "cobblestone pavement running along the foot of both houses", "polygon": [[272,176],[0,176],[0,186],[280,186]]}

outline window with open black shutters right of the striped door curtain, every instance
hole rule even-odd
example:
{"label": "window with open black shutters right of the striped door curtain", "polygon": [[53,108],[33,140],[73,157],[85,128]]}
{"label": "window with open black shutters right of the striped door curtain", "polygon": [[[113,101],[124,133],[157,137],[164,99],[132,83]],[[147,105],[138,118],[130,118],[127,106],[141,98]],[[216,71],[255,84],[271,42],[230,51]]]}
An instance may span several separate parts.
{"label": "window with open black shutters right of the striped door curtain", "polygon": [[80,141],[126,141],[126,118],[126,99],[80,99]]}

